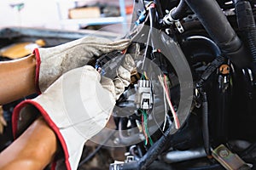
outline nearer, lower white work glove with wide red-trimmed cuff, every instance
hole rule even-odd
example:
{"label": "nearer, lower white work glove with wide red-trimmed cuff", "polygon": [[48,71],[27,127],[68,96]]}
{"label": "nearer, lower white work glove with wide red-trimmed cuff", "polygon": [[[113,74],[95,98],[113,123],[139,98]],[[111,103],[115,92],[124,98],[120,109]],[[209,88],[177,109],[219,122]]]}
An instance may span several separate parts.
{"label": "nearer, lower white work glove with wide red-trimmed cuff", "polygon": [[[131,55],[125,58],[135,65]],[[131,67],[124,74],[128,76],[127,71],[130,70]],[[84,142],[105,127],[115,105],[116,89],[124,89],[125,84],[122,82],[129,81],[129,78],[125,80],[121,76],[122,73],[114,79],[118,85],[116,87],[113,80],[101,77],[89,65],[68,71],[36,99],[25,100],[15,107],[15,137],[38,115],[44,116],[64,151],[64,159],[54,163],[55,169],[77,169]]]}

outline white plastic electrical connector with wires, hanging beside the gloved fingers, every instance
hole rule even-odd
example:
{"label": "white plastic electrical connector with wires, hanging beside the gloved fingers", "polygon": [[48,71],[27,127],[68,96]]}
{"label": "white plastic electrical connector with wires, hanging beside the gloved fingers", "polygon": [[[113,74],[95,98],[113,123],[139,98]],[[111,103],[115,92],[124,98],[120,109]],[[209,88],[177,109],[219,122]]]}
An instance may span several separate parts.
{"label": "white plastic electrical connector with wires, hanging beside the gloved fingers", "polygon": [[148,80],[137,81],[137,108],[143,110],[152,109],[153,95],[151,90],[151,82]]}

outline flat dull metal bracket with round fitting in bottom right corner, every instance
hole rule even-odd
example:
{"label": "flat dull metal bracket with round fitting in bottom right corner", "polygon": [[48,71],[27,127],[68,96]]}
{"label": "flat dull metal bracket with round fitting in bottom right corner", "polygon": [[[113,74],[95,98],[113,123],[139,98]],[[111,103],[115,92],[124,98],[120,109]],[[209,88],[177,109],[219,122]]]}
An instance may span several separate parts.
{"label": "flat dull metal bracket with round fitting in bottom right corner", "polygon": [[234,170],[249,170],[249,167],[239,156],[232,153],[224,144],[219,145],[215,150],[212,150],[212,156],[226,169]]}

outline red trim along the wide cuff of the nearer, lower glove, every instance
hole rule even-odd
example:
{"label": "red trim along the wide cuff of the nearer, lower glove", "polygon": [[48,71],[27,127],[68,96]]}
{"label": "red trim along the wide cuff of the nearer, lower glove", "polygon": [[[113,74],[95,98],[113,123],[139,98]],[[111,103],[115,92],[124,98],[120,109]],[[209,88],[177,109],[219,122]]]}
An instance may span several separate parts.
{"label": "red trim along the wide cuff of the nearer, lower glove", "polygon": [[[60,141],[61,144],[61,148],[63,150],[64,153],[64,157],[65,157],[65,167],[67,170],[71,170],[71,163],[69,161],[70,156],[69,156],[69,152],[68,152],[68,147],[67,147],[67,143],[66,140],[64,139],[64,137],[61,134],[60,129],[56,126],[55,122],[53,122],[51,120],[51,118],[49,117],[49,114],[44,110],[44,108],[39,105],[36,101],[33,101],[32,99],[27,99],[23,102],[21,102],[19,105],[17,105],[15,107],[15,110],[13,112],[13,116],[12,116],[12,128],[13,128],[13,135],[14,138],[16,139],[18,137],[18,125],[19,125],[19,119],[20,119],[20,112],[25,109],[27,106],[34,106],[38,112],[44,117],[44,121],[47,122],[47,124],[49,125],[49,127],[55,132],[57,138]],[[36,114],[35,112],[33,112],[33,114]],[[31,117],[31,116],[30,116]],[[22,118],[21,118],[22,119]],[[22,121],[22,120],[21,120]],[[27,120],[27,122],[25,123],[26,126],[29,126],[33,120]],[[80,157],[79,157],[80,158]],[[77,158],[77,159],[79,159]],[[57,162],[53,162],[52,163],[52,168],[51,169],[55,169],[55,167],[57,166]],[[63,167],[62,167],[63,168]]]}

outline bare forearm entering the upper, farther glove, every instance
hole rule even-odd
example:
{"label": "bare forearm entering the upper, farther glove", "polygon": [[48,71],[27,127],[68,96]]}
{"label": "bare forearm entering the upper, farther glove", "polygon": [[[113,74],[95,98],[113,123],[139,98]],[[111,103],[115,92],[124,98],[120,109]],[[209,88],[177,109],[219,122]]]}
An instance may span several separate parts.
{"label": "bare forearm entering the upper, farther glove", "polygon": [[35,72],[33,54],[23,59],[0,62],[0,105],[34,94]]}

